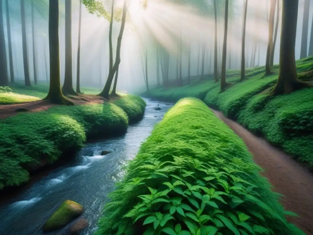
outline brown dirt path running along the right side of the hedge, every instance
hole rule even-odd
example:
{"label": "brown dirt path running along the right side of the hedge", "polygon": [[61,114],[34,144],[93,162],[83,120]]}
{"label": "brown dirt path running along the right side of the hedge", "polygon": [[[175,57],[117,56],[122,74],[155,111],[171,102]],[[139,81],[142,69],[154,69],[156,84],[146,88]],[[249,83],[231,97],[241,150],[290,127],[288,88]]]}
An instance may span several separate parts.
{"label": "brown dirt path running along the right side of the hedge", "polygon": [[289,221],[307,235],[313,234],[313,174],[264,139],[224,117],[222,112],[212,111],[244,140],[254,155],[254,161],[265,170],[263,175],[269,179],[275,191],[285,196],[281,200],[285,209],[300,216],[292,217]]}

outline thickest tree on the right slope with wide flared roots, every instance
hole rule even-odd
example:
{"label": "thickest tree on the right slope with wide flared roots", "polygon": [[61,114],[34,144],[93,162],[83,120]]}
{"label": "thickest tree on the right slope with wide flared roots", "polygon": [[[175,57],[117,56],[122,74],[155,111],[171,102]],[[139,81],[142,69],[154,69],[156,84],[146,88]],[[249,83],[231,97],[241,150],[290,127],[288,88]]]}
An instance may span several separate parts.
{"label": "thickest tree on the right slope with wide flared roots", "polygon": [[295,65],[295,38],[297,30],[299,0],[284,0],[282,9],[281,38],[280,38],[280,66],[272,95],[291,93],[311,84],[298,80]]}

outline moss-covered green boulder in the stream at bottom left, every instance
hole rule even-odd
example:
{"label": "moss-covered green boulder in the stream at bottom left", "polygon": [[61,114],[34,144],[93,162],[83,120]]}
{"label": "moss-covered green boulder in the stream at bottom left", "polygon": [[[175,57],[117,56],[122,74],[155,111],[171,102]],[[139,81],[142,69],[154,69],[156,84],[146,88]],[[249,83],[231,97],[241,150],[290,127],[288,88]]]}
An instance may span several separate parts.
{"label": "moss-covered green boulder in the stream at bottom left", "polygon": [[60,229],[82,213],[83,207],[80,204],[75,201],[66,200],[44,224],[43,231],[50,232]]}

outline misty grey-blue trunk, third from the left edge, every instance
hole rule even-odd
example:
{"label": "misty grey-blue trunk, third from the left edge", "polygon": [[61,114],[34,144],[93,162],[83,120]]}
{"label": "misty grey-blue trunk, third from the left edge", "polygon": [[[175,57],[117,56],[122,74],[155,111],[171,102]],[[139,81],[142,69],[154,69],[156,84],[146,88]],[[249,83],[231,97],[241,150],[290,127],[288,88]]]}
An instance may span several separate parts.
{"label": "misty grey-blue trunk, third from the left edge", "polygon": [[21,0],[21,21],[22,21],[22,45],[23,45],[23,64],[25,86],[31,86],[28,70],[27,41],[26,41],[26,23],[25,23],[25,3]]}

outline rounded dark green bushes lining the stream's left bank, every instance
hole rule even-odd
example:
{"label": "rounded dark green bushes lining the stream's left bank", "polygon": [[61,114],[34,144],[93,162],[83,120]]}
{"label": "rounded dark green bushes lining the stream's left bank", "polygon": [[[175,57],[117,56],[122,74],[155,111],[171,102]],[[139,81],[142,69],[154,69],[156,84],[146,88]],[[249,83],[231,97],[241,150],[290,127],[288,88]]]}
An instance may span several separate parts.
{"label": "rounded dark green bushes lining the stream's left bank", "polygon": [[141,97],[126,95],[110,103],[51,107],[0,120],[0,189],[27,182],[29,171],[80,149],[86,138],[125,133],[145,106]]}

